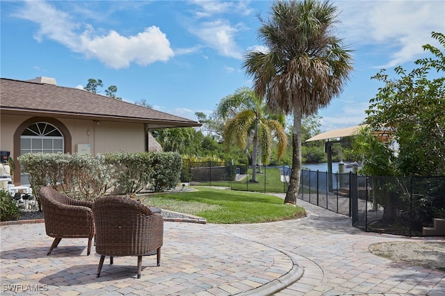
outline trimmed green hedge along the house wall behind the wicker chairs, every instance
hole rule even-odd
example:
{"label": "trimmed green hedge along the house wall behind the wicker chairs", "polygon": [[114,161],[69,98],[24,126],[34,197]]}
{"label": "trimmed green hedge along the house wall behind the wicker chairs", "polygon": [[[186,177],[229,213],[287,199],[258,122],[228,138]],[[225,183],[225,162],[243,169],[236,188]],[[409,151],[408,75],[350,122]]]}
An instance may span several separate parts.
{"label": "trimmed green hedge along the house wall behind the wicker chairs", "polygon": [[172,152],[115,152],[108,154],[24,154],[22,172],[29,173],[38,192],[50,185],[70,197],[93,200],[113,194],[154,192],[174,188],[181,174],[181,156]]}

